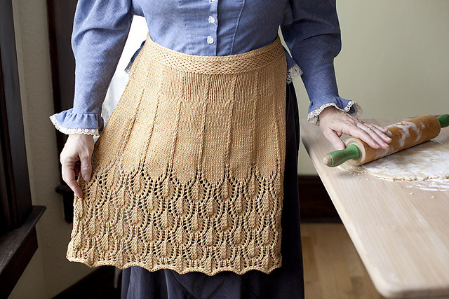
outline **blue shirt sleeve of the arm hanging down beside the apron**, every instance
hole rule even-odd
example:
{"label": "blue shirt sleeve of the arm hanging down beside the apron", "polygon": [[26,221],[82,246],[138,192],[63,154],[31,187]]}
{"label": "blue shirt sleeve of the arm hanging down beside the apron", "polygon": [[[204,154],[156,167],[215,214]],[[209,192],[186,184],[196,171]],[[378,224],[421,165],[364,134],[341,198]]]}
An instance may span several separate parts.
{"label": "blue shirt sleeve of the arm hanging down beside the apron", "polygon": [[65,134],[99,135],[102,103],[128,37],[131,0],[79,0],[72,31],[75,57],[73,108],[50,119]]}

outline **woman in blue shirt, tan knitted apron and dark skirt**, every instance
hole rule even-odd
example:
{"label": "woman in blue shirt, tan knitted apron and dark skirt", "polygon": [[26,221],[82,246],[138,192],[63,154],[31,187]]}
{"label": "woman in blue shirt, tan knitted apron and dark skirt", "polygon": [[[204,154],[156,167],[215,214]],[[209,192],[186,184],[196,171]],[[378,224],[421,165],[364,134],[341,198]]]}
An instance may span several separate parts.
{"label": "woman in blue shirt, tan knitted apron and dark skirt", "polygon": [[[133,15],[145,16],[149,36],[103,127]],[[74,108],[51,116],[69,134],[67,258],[125,269],[123,297],[304,297],[287,77],[302,74],[309,120],[334,148],[344,148],[341,134],[374,148],[389,142],[338,97],[335,2],[80,0],[72,46]]]}

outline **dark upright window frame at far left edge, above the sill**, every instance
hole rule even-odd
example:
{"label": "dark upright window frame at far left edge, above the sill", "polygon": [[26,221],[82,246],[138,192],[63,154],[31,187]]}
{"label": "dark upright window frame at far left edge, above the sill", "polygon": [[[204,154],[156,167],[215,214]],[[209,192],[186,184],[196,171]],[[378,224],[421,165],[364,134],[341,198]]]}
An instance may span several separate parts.
{"label": "dark upright window frame at far left edge, above the sill", "polygon": [[0,1],[0,139],[6,181],[0,200],[9,214],[4,230],[18,228],[32,210],[14,36],[11,0]]}

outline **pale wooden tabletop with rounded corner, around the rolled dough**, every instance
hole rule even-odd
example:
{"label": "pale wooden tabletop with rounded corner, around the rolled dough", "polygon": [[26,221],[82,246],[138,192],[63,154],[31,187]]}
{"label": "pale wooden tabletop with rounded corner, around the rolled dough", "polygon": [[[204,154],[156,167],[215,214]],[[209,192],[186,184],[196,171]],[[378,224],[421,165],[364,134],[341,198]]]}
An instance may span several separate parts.
{"label": "pale wooden tabletop with rounded corner, around the rolled dough", "polygon": [[[366,120],[389,125],[401,120]],[[323,165],[332,146],[301,120],[302,141],[377,291],[386,297],[449,295],[449,191]],[[441,130],[449,137],[449,127]]]}

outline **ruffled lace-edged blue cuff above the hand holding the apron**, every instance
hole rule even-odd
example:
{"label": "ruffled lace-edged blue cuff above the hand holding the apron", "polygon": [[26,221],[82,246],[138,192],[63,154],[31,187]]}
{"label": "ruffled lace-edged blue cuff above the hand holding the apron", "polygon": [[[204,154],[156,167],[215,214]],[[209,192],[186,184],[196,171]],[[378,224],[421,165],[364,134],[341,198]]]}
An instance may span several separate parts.
{"label": "ruffled lace-edged blue cuff above the hand holding the apron", "polygon": [[74,113],[73,108],[50,116],[55,128],[64,134],[100,136],[104,120],[96,113]]}

